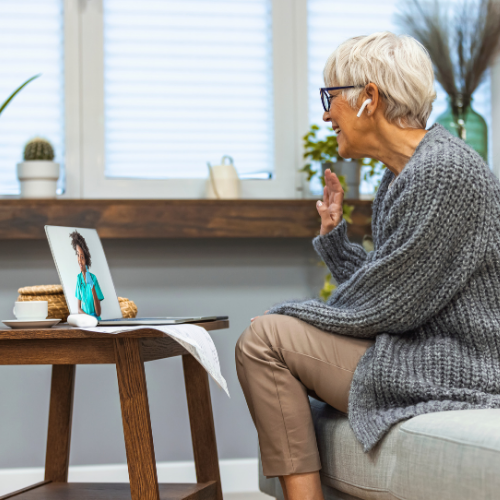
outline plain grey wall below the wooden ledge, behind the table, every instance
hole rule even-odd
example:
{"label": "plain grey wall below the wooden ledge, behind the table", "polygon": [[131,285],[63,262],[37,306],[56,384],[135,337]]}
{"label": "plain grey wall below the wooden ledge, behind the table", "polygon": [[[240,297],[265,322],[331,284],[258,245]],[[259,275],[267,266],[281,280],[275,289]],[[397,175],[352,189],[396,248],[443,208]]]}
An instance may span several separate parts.
{"label": "plain grey wall below the wooden ledge, behind the table", "polygon": [[[234,346],[250,318],[287,298],[312,296],[324,269],[308,240],[105,240],[118,295],[142,315],[227,314],[213,332],[231,399],[211,382],[219,457],[257,457]],[[0,242],[0,319],[21,286],[57,283],[46,241]],[[158,461],[192,460],[180,357],[146,365]],[[0,468],[43,465],[50,367],[0,366]],[[116,372],[78,366],[71,464],[125,462]]]}

